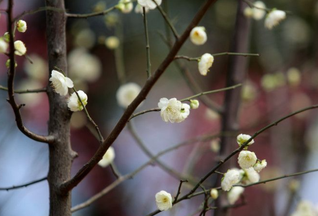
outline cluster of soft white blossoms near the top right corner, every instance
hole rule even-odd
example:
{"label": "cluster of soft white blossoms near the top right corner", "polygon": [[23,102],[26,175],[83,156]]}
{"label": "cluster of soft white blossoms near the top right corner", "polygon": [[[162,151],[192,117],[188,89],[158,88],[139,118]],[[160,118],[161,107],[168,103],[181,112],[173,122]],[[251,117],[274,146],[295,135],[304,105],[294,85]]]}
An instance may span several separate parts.
{"label": "cluster of soft white blossoms near the top right corner", "polygon": [[266,5],[262,1],[255,1],[252,7],[246,7],[244,15],[254,20],[261,20],[265,17],[264,25],[268,29],[279,25],[279,23],[286,18],[286,12],[273,8],[271,10],[266,8]]}

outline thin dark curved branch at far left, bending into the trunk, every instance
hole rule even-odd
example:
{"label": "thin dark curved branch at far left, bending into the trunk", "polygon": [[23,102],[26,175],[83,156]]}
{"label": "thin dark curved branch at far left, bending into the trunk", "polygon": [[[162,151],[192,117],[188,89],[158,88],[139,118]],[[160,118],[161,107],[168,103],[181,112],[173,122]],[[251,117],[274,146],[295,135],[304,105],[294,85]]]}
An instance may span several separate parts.
{"label": "thin dark curved branch at far left, bending into the trunk", "polygon": [[7,9],[7,14],[8,14],[8,20],[7,20],[7,28],[9,32],[9,57],[10,57],[10,64],[9,64],[9,70],[8,70],[8,81],[7,81],[7,91],[8,91],[8,102],[11,105],[14,115],[15,115],[15,121],[17,123],[17,127],[19,130],[29,138],[39,141],[39,142],[45,142],[48,144],[52,144],[54,141],[54,136],[53,135],[48,135],[48,136],[42,136],[42,135],[37,135],[29,131],[22,122],[22,117],[20,113],[20,105],[17,105],[14,99],[14,87],[13,87],[13,81],[14,81],[14,75],[15,75],[15,56],[14,56],[14,38],[13,38],[13,32],[12,32],[12,25],[14,24],[14,21],[12,20],[12,8],[13,8],[13,0],[8,1],[8,9]]}

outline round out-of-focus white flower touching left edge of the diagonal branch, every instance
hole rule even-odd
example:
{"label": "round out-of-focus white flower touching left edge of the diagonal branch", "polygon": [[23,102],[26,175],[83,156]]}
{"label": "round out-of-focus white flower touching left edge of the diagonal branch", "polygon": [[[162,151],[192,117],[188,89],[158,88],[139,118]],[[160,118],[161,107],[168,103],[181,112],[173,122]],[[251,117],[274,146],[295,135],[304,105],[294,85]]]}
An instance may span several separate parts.
{"label": "round out-of-focus white flower touching left edge of the diagonal branch", "polygon": [[135,100],[140,90],[141,87],[134,82],[120,86],[116,93],[117,103],[119,106],[127,108]]}

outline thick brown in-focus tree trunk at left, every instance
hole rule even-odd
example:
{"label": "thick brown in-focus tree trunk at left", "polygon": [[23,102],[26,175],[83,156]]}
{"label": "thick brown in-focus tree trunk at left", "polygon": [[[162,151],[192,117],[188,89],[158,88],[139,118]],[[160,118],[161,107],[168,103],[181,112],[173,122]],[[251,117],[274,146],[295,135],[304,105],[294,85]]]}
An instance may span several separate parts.
{"label": "thick brown in-focus tree trunk at left", "polygon": [[[46,0],[46,5],[64,9],[64,0]],[[49,71],[57,66],[67,73],[65,14],[47,11],[46,15]],[[67,108],[66,97],[56,94],[50,85],[47,94],[50,103],[48,131],[49,135],[56,137],[49,146],[50,216],[71,216],[71,191],[62,193],[60,190],[61,184],[71,177],[71,164],[75,156],[70,146],[71,112]]]}

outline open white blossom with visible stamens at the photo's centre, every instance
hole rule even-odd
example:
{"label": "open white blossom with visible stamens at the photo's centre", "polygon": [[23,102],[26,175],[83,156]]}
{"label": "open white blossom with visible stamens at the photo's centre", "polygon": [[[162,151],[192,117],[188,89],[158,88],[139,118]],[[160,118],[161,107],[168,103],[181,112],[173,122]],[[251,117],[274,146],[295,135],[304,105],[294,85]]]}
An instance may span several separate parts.
{"label": "open white blossom with visible stamens at the photo's centre", "polygon": [[160,115],[164,122],[180,123],[184,121],[190,114],[190,106],[182,104],[176,98],[161,98],[158,107]]}

